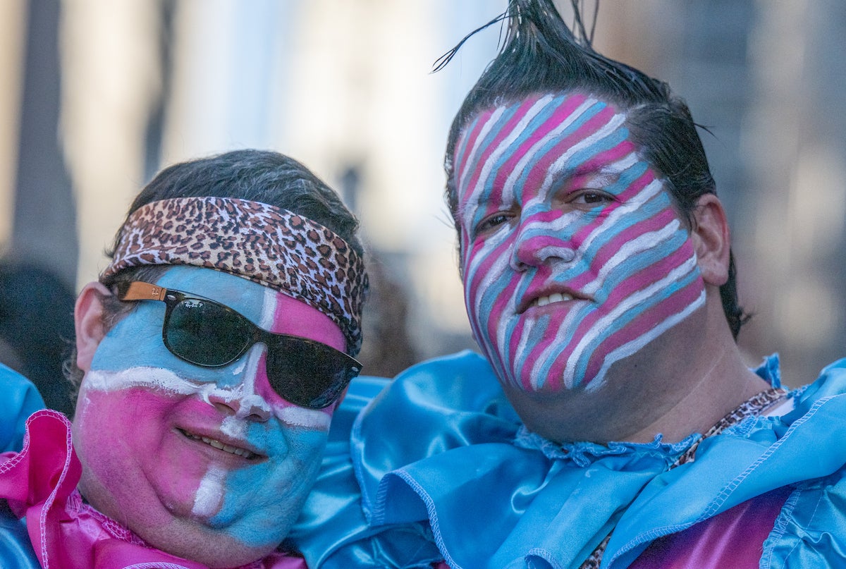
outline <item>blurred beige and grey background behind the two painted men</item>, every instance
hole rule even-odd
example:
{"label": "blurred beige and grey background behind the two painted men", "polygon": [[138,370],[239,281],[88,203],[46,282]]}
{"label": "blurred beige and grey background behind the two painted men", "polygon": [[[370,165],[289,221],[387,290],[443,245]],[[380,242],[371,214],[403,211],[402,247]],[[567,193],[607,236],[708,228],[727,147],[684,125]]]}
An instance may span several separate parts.
{"label": "blurred beige and grey background behind the two painted men", "polygon": [[[431,67],[505,4],[2,0],[0,361],[49,393],[45,346],[71,339],[73,296],[135,193],[164,165],[241,147],[299,159],[359,215],[366,373],[473,347],[442,152],[499,26]],[[711,130],[755,313],[740,343],[750,364],[779,351],[793,386],[846,355],[844,31],[841,0],[602,0],[596,21],[597,49],[667,80]]]}

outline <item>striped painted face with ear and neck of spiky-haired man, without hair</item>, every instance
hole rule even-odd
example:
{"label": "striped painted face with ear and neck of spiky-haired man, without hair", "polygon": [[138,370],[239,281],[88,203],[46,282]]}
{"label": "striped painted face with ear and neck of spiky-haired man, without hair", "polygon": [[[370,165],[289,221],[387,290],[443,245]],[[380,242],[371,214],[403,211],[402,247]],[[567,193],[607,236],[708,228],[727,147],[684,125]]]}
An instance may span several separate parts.
{"label": "striped painted face with ear and neck of spiky-haired man, without hair", "polygon": [[[687,414],[679,404],[711,389],[715,352],[739,370],[744,395],[766,389],[728,326],[703,334],[727,278],[722,207],[708,194],[684,218],[617,104],[573,91],[484,109],[460,131],[452,163],[470,323],[533,431],[681,439],[689,427],[667,409]],[[691,373],[658,373],[693,340],[704,349]],[[698,407],[701,428],[725,404]]]}

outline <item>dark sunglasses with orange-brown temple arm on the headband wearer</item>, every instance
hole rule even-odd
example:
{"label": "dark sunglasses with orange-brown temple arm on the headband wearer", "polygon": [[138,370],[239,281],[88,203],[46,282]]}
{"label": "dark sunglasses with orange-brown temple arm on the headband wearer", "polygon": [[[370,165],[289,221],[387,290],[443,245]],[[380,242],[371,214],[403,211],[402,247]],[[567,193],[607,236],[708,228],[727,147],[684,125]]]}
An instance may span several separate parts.
{"label": "dark sunglasses with orange-brown temple arm on the headband wearer", "polygon": [[267,347],[267,378],[285,401],[323,409],[361,371],[353,357],[315,340],[274,334],[219,302],[141,281],[118,283],[121,301],[162,301],[162,340],[174,356],[201,367],[226,366],[256,342]]}

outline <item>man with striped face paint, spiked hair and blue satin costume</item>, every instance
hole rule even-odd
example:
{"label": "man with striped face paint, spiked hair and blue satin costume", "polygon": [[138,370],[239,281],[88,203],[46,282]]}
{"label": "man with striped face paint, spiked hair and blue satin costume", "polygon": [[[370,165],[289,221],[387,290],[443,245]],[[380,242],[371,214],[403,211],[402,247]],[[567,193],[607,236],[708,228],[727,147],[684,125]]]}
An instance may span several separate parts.
{"label": "man with striped face paint, spiked hair and blue satin costume", "polygon": [[[445,157],[482,355],[412,367],[365,409],[359,517],[298,533],[307,558],[842,566],[846,361],[794,390],[777,356],[748,369],[726,214],[687,106],[595,52],[552,0],[512,0],[503,19]],[[309,519],[352,501],[334,474]]]}

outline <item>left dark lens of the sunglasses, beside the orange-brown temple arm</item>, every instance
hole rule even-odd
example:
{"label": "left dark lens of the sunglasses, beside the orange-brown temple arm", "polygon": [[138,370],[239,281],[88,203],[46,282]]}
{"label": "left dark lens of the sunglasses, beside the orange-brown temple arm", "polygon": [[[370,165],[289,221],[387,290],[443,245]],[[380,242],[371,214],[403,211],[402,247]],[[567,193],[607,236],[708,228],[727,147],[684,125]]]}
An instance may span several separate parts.
{"label": "left dark lens of the sunglasses, beside the orange-brown temple arm", "polygon": [[173,307],[165,323],[168,350],[201,366],[232,362],[249,341],[249,324],[216,302],[186,298]]}

